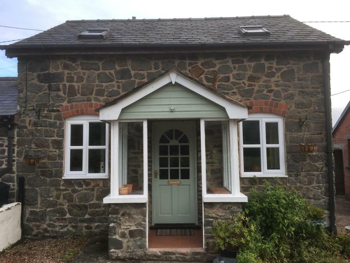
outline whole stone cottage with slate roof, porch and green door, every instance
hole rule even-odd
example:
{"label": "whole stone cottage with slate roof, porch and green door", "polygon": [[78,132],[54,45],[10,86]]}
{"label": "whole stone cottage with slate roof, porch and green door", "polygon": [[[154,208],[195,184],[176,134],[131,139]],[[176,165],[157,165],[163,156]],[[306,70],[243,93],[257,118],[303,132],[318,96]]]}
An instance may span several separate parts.
{"label": "whole stone cottage with slate roof, porch and green door", "polygon": [[[329,55],[344,45],[282,15],[66,21],[1,46],[18,58],[26,236],[211,259],[213,221],[273,177],[334,230]],[[299,152],[306,115],[313,154]]]}

